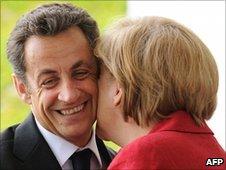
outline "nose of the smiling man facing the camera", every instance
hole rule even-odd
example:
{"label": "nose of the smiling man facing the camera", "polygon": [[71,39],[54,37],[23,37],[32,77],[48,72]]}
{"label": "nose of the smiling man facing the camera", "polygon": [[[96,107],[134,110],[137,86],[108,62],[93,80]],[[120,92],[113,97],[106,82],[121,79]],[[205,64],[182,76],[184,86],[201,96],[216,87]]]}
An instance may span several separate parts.
{"label": "nose of the smiling man facing the camera", "polygon": [[76,88],[75,82],[67,81],[61,86],[58,94],[58,100],[71,103],[79,98],[80,93],[80,90]]}

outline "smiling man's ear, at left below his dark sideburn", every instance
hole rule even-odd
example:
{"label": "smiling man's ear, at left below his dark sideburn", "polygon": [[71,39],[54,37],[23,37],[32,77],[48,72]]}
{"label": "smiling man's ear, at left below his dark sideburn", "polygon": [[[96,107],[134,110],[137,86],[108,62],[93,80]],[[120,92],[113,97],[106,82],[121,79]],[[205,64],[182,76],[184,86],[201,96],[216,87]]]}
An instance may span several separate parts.
{"label": "smiling man's ear, at left below his dark sideburn", "polygon": [[27,86],[25,85],[25,83],[21,80],[21,78],[19,78],[18,76],[16,76],[15,74],[12,75],[13,77],[13,83],[14,86],[17,90],[18,95],[20,96],[20,98],[27,104],[31,104],[31,95],[28,91]]}

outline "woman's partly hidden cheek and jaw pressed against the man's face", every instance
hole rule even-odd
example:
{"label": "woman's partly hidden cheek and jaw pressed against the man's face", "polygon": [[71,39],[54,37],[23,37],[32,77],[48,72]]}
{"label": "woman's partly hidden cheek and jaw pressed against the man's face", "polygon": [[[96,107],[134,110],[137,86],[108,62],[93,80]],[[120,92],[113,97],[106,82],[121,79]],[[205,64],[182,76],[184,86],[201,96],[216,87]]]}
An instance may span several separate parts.
{"label": "woman's partly hidden cheek and jaw pressed against the man's face", "polygon": [[114,104],[114,96],[117,86],[116,80],[101,66],[101,74],[98,81],[99,97],[97,109],[97,134],[105,140],[112,139],[114,131],[117,129],[117,106]]}

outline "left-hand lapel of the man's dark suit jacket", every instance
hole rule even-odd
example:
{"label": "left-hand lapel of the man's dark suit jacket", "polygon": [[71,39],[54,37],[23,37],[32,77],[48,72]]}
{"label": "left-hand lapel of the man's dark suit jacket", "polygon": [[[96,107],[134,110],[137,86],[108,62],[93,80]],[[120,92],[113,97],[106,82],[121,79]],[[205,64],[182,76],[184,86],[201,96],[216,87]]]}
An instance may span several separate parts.
{"label": "left-hand lapel of the man's dark suit jacket", "polygon": [[16,128],[13,152],[23,162],[22,169],[61,170],[32,115]]}

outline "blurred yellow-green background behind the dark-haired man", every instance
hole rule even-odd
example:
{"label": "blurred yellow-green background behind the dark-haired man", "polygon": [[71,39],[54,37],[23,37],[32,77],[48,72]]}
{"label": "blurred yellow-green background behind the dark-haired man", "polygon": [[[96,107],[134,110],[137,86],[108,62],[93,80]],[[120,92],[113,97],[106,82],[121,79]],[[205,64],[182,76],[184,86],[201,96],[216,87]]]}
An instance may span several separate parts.
{"label": "blurred yellow-green background behind the dark-haired man", "polygon": [[[16,21],[44,3],[69,2],[86,9],[96,19],[100,31],[126,13],[126,1],[1,1],[1,130],[19,123],[29,114],[29,107],[18,97],[12,84],[12,69],[6,57],[6,43]],[[112,143],[107,143],[117,149]]]}

